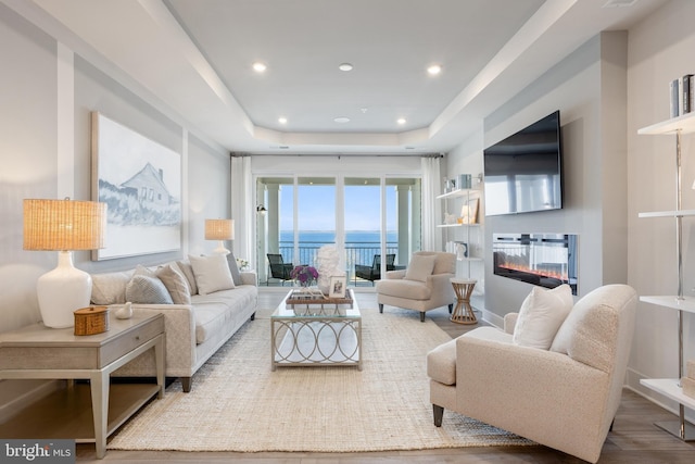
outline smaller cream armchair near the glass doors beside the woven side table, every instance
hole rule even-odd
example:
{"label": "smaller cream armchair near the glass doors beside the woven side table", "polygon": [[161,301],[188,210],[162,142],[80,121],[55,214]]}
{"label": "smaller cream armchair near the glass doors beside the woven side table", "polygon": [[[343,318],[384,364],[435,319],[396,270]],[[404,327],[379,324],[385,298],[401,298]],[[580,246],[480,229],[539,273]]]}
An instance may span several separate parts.
{"label": "smaller cream armchair near the glass doors beside the woven side table", "polygon": [[377,281],[379,312],[383,305],[404,308],[425,313],[441,306],[454,308],[454,289],[451,278],[456,275],[456,255],[438,251],[416,251],[407,269],[390,271]]}

